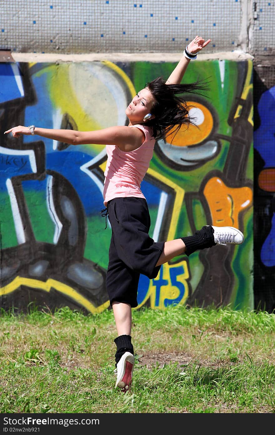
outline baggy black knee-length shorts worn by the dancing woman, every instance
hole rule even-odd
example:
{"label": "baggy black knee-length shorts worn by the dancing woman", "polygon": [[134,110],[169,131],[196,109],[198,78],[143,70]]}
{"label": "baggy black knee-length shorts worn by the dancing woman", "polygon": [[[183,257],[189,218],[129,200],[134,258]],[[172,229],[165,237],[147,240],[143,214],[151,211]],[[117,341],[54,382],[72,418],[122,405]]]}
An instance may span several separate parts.
{"label": "baggy black knee-length shorts worn by the dancing woman", "polygon": [[156,278],[164,242],[155,242],[148,234],[151,220],[144,198],[114,198],[107,210],[112,227],[106,275],[110,305],[117,301],[134,308],[138,305],[139,275]]}

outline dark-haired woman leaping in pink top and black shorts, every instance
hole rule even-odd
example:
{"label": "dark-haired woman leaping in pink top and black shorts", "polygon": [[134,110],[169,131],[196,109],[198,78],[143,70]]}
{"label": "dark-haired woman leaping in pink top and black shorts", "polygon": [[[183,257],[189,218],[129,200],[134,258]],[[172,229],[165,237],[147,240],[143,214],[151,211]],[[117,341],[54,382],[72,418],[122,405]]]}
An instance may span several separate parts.
{"label": "dark-haired woman leaping in pink top and black shorts", "polygon": [[243,234],[233,227],[204,226],[192,236],[155,242],[149,237],[150,216],[140,184],[152,159],[156,139],[176,134],[192,123],[183,93],[200,94],[203,84],[181,84],[191,59],[206,47],[196,36],[186,47],[182,59],[168,80],[161,77],[139,90],[126,115],[128,126],[108,127],[97,131],[56,130],[17,126],[5,131],[13,137],[36,134],[67,144],[108,144],[103,199],[112,228],[106,290],[113,308],[117,338],[116,387],[124,392],[133,378],[134,349],[131,343],[132,308],[137,304],[139,275],[156,278],[162,264],[172,258],[216,244],[241,244]]}

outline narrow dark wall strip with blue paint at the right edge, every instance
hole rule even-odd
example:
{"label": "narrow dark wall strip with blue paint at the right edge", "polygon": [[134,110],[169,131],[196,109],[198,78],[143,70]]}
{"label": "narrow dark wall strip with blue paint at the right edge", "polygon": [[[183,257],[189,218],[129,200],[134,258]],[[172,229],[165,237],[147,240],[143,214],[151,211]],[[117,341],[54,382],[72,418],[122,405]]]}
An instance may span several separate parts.
{"label": "narrow dark wall strip with blue paint at the right edge", "polygon": [[275,310],[275,66],[254,71],[255,306]]}

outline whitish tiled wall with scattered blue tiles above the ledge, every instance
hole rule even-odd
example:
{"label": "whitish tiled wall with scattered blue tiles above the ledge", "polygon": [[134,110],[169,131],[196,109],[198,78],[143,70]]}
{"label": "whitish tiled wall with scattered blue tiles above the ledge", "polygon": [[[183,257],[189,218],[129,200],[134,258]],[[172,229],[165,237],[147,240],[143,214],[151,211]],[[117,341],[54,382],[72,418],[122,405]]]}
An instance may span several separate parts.
{"label": "whitish tiled wall with scattered blue tiles above the ledge", "polygon": [[181,52],[196,34],[205,53],[275,47],[275,1],[1,0],[0,49],[37,53]]}

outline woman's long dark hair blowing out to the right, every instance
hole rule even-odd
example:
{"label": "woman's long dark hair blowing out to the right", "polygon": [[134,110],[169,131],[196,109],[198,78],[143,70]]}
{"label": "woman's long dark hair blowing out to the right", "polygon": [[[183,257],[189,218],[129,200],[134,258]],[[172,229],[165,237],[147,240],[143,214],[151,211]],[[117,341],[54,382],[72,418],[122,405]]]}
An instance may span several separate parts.
{"label": "woman's long dark hair blowing out to the right", "polygon": [[155,139],[164,139],[169,134],[174,134],[174,138],[182,124],[186,124],[187,128],[189,124],[195,125],[195,119],[189,116],[190,107],[186,100],[176,96],[176,94],[205,96],[202,93],[208,89],[205,85],[205,81],[189,84],[166,84],[162,77],[157,77],[146,83],[146,87],[154,97],[150,112],[155,115],[155,118],[148,120],[145,125],[152,128]]}

